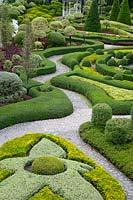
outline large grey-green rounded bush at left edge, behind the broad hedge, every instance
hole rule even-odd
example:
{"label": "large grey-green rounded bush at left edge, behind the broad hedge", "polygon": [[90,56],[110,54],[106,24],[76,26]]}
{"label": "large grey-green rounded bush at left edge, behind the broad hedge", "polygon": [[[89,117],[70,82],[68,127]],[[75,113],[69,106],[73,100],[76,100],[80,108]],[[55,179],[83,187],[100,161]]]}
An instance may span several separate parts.
{"label": "large grey-green rounded bush at left edge, behind the broad hedge", "polygon": [[9,72],[0,73],[0,102],[17,102],[23,99],[26,89],[18,75]]}

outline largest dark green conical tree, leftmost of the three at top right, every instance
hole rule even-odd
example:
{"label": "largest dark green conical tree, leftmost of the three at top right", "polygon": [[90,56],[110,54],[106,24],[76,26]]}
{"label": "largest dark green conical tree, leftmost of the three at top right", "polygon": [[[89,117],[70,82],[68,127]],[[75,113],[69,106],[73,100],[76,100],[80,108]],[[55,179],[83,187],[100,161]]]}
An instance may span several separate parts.
{"label": "largest dark green conical tree, leftmost of the three at top right", "polygon": [[93,0],[88,15],[86,17],[84,29],[91,32],[101,31],[101,24],[98,14],[97,0]]}

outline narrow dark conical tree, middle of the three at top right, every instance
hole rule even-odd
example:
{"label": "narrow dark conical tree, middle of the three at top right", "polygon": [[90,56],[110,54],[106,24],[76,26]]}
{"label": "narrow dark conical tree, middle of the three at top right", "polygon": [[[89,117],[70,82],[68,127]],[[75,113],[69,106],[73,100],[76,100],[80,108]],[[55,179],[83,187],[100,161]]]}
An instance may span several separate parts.
{"label": "narrow dark conical tree, middle of the three at top right", "polygon": [[119,0],[114,0],[111,8],[110,20],[117,21],[119,10],[120,10],[120,2]]}

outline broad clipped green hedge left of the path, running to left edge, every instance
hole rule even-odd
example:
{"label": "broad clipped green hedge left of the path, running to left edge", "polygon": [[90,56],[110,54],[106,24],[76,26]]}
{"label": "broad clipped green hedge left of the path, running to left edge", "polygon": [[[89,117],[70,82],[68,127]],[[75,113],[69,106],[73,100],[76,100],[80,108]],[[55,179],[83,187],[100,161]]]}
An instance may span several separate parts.
{"label": "broad clipped green hedge left of the path, running to left edge", "polygon": [[39,87],[30,89],[31,100],[0,107],[0,129],[21,122],[65,117],[73,112],[73,106],[61,90],[41,92]]}

